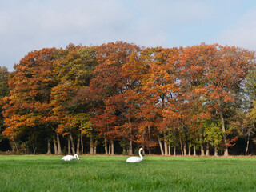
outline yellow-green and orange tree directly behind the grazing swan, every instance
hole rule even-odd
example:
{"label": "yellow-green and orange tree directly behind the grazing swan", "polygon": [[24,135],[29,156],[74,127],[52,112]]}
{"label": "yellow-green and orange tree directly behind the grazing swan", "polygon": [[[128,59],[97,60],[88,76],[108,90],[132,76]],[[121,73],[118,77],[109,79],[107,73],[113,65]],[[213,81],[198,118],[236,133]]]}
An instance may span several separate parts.
{"label": "yellow-green and orange tree directly behind the grazing swan", "polygon": [[[97,65],[94,47],[70,44],[65,50],[60,50],[59,55],[59,59],[54,62],[54,75],[58,85],[51,93],[51,118],[56,120],[58,133],[69,135],[68,143],[71,143],[72,153],[79,154],[80,146],[83,153],[82,136],[89,135],[89,130],[85,130],[84,125],[89,125],[90,120],[89,105],[82,102],[84,98],[79,93],[89,86],[90,79],[93,78],[94,67]],[[74,136],[77,140],[76,152]]]}

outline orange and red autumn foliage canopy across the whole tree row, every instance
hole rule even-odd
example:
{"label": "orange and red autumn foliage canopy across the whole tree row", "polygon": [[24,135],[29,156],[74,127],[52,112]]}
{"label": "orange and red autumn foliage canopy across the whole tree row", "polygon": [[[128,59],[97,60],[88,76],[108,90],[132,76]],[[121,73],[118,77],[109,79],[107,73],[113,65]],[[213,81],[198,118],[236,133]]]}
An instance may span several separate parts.
{"label": "orange and red autumn foliage canopy across the whole tree row", "polygon": [[106,139],[146,143],[146,134],[150,139],[185,126],[199,133],[206,120],[238,101],[254,65],[253,52],[218,44],[141,50],[115,42],[33,51],[10,78],[4,133],[11,137],[22,126],[52,123],[66,134],[78,129],[78,114],[89,113],[84,133],[93,123]]}

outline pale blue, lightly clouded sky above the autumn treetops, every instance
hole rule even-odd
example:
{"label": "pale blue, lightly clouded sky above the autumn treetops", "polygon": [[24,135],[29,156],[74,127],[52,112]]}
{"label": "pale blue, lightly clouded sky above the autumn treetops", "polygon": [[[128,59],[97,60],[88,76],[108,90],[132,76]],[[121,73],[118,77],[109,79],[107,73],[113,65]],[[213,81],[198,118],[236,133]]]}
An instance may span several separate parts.
{"label": "pale blue, lightly clouded sky above the autumn treetops", "polygon": [[254,0],[0,0],[0,66],[69,43],[256,50]]}

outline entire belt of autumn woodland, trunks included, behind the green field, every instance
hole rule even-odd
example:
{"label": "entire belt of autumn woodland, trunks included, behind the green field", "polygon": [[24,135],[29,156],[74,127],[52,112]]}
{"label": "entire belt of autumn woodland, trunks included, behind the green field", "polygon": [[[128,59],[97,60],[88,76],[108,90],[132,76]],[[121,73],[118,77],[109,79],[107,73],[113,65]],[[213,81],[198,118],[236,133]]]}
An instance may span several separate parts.
{"label": "entire belt of autumn woodland, trunks included, behind the green field", "polygon": [[0,150],[256,154],[255,64],[254,51],[217,43],[31,51],[0,67]]}

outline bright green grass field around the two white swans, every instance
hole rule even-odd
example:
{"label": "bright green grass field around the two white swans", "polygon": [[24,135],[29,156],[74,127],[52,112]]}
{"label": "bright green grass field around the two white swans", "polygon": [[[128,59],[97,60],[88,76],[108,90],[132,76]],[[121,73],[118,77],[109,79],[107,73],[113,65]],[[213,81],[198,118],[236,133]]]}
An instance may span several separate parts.
{"label": "bright green grass field around the two white swans", "polygon": [[256,158],[0,156],[0,191],[256,191]]}

